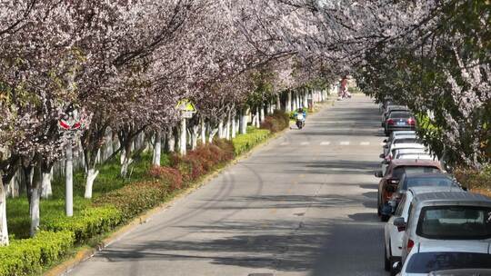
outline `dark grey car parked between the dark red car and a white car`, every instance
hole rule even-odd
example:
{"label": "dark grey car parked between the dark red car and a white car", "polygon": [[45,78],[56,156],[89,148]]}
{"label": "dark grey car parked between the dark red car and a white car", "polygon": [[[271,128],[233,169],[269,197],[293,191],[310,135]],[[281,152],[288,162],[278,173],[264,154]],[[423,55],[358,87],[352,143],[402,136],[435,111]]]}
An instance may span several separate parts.
{"label": "dark grey car parked between the dark red car and a white car", "polygon": [[396,210],[398,203],[407,189],[414,187],[449,187],[462,188],[456,180],[446,173],[403,173],[396,192],[392,193],[391,199],[382,207],[381,215],[390,216]]}

